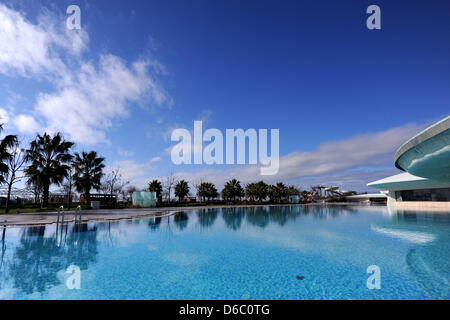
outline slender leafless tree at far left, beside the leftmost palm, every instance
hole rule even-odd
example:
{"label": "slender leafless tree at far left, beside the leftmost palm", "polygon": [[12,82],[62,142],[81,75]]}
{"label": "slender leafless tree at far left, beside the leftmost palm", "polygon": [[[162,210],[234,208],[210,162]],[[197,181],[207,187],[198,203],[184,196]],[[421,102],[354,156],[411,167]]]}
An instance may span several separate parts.
{"label": "slender leafless tree at far left, beside the leftmost palm", "polygon": [[8,173],[5,175],[8,192],[6,195],[5,213],[8,213],[10,206],[11,190],[15,183],[23,178],[23,166],[26,163],[25,149],[21,148],[21,142],[16,140],[10,147],[9,153],[11,157],[6,160]]}

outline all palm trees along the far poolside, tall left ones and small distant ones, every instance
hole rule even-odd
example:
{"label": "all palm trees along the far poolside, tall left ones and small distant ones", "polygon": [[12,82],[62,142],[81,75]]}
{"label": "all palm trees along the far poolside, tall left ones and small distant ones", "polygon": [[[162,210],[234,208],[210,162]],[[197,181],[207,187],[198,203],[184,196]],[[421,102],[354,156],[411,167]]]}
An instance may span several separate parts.
{"label": "all palm trees along the far poolside, tall left ones and small distant ones", "polygon": [[[0,125],[0,131],[2,125]],[[8,212],[11,196],[11,187],[17,174],[12,170],[12,159],[16,156],[19,141],[15,135],[7,135],[0,140],[0,184],[8,184],[5,212]],[[41,197],[41,206],[48,207],[50,187],[60,186],[64,181],[69,182],[69,198],[72,186],[79,193],[84,195],[87,202],[90,201],[91,190],[100,190],[103,176],[104,158],[99,157],[97,152],[71,153],[74,143],[65,140],[61,133],[50,136],[47,133],[37,135],[27,149],[20,149],[23,152],[23,170],[26,183],[32,188],[36,195]],[[185,180],[175,181],[166,186],[170,194],[173,188],[175,196],[182,202],[190,193],[189,183]],[[9,183],[8,183],[9,182]],[[227,181],[221,193],[211,182],[201,182],[195,185],[197,196],[205,201],[211,201],[219,197],[225,201],[236,203],[236,201],[246,198],[252,202],[262,202],[267,198],[271,202],[281,203],[287,201],[289,195],[300,194],[300,191],[293,186],[286,186],[279,182],[275,185],[268,185],[263,181],[249,183],[245,188],[236,179]],[[149,191],[156,192],[158,202],[162,201],[163,186],[158,180],[153,180],[149,184]],[[170,198],[169,198],[170,202]],[[70,205],[70,204],[69,204]]]}

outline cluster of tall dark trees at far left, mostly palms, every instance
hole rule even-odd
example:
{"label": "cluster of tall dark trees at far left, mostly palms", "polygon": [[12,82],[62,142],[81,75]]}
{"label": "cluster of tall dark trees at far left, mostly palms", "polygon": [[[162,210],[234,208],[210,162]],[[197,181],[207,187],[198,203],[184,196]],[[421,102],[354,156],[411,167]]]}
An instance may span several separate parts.
{"label": "cluster of tall dark trees at far left, mostly palms", "polygon": [[[11,169],[11,159],[20,151],[23,153],[26,183],[35,194],[42,196],[42,207],[48,206],[50,187],[60,186],[65,180],[73,181],[75,190],[83,193],[87,201],[92,189],[100,189],[105,159],[97,152],[72,154],[74,143],[65,140],[61,133],[53,136],[38,134],[27,149],[19,150],[18,144],[16,135],[7,135],[0,141],[0,184],[14,181],[12,175],[17,172]],[[12,183],[9,183],[5,212],[9,209],[11,187]]]}

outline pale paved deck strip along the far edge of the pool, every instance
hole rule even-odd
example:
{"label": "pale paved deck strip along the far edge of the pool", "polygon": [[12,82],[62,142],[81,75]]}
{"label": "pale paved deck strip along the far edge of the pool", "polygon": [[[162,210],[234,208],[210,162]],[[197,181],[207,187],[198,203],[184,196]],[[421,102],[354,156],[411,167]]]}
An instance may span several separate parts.
{"label": "pale paved deck strip along the far edge of the pool", "polygon": [[[344,203],[334,203],[339,205]],[[345,203],[345,205],[354,205],[355,203]],[[218,206],[190,206],[190,207],[160,207],[160,208],[140,208],[140,209],[101,209],[84,210],[82,213],[82,222],[102,222],[130,220],[135,218],[153,218],[166,217],[180,211],[199,210],[199,209],[217,209],[217,208],[251,208],[267,206],[292,206],[298,204],[260,204],[260,205],[218,205]],[[307,204],[324,205],[324,204]],[[33,212],[33,213],[9,213],[0,214],[0,228],[8,227],[29,227],[56,224],[58,213],[52,212]],[[75,218],[75,211],[66,212],[65,222],[72,222]]]}

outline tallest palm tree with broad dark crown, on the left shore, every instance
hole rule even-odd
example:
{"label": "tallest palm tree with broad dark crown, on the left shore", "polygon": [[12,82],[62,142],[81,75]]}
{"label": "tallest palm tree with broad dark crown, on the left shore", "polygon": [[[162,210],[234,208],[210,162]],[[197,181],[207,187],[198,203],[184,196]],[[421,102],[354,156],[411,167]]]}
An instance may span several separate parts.
{"label": "tallest palm tree with broad dark crown, on the left shore", "polygon": [[29,185],[42,188],[42,206],[48,206],[49,189],[51,184],[60,185],[70,170],[69,163],[73,156],[70,148],[73,142],[64,140],[61,133],[50,137],[47,133],[37,135],[26,151],[26,161],[31,164],[25,169]]}

